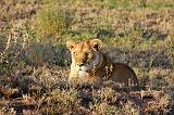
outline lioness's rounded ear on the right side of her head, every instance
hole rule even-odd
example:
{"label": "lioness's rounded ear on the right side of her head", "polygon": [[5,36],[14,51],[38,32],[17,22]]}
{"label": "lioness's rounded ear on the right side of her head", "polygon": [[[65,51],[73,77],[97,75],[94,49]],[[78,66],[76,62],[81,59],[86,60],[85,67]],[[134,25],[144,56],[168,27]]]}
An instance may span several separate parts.
{"label": "lioness's rounded ear on the right side of her head", "polygon": [[102,48],[102,41],[100,39],[90,40],[90,47],[96,51],[99,51]]}

